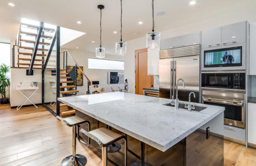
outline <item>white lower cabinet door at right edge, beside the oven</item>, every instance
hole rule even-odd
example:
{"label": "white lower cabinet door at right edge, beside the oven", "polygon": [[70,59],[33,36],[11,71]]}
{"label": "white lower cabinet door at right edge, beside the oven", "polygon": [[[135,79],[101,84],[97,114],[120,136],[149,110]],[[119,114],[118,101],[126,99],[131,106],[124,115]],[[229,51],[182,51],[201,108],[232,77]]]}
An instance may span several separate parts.
{"label": "white lower cabinet door at right edge, beside the oven", "polygon": [[256,103],[248,103],[248,142],[256,144]]}

